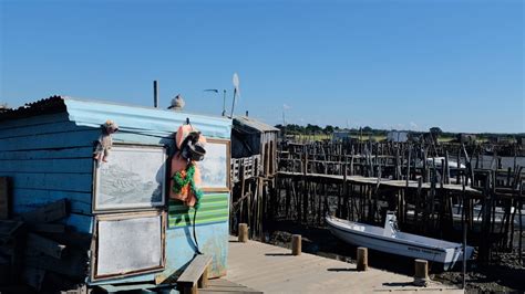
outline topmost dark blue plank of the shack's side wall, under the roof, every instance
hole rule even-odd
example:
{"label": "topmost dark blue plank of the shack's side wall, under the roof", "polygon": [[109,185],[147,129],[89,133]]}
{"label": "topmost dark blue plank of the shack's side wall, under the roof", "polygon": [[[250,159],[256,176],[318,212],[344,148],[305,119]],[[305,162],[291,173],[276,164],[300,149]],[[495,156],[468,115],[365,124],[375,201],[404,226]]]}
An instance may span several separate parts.
{"label": "topmost dark blue plank of the shack's side wall, under the roof", "polygon": [[0,129],[0,139],[11,138],[11,137],[21,137],[21,136],[34,136],[51,134],[56,132],[71,132],[71,130],[89,130],[93,129],[84,126],[76,126],[72,122],[55,122],[55,123],[45,123],[39,125],[25,125],[17,126],[11,128]]}

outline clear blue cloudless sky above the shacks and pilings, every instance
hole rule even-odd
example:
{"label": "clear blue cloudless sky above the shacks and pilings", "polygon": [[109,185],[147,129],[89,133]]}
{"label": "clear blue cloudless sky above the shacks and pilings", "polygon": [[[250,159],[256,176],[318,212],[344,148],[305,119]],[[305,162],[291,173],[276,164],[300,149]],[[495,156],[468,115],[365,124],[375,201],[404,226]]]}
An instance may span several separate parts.
{"label": "clear blue cloudless sky above the shacks and pilings", "polygon": [[177,93],[269,124],[525,132],[524,1],[0,0],[0,102]]}

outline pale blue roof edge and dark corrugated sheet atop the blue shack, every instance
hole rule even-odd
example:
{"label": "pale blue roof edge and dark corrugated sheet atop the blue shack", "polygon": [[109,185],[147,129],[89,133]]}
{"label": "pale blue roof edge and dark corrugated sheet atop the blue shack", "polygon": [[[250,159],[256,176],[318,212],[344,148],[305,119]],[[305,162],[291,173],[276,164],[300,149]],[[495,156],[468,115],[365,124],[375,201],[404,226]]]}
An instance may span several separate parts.
{"label": "pale blue roof edge and dark corrugated sheet atop the blue shack", "polygon": [[187,118],[208,137],[229,138],[231,133],[231,119],[220,116],[204,116],[64,96],[52,96],[1,113],[0,122],[61,112],[66,112],[69,119],[79,126],[100,127],[107,119],[112,119],[121,130],[144,135],[164,136],[166,133],[173,133],[179,125],[185,124]]}

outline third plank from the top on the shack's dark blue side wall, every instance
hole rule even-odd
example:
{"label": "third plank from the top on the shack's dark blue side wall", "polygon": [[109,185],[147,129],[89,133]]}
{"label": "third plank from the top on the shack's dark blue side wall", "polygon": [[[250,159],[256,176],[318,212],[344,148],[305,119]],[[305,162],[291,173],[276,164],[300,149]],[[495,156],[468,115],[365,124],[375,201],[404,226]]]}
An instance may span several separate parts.
{"label": "third plank from the top on the shack's dark blue side wall", "polygon": [[0,160],[92,158],[93,148],[94,148],[93,146],[89,146],[89,147],[64,147],[64,148],[56,148],[56,149],[50,149],[50,150],[3,151],[3,153],[0,153]]}

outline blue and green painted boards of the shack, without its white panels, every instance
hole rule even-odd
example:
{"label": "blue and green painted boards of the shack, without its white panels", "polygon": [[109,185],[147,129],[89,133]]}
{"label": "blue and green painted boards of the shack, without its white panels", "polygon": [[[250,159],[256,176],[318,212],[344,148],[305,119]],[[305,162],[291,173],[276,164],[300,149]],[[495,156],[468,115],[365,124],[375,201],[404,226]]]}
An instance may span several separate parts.
{"label": "blue and green painted boards of the shack, without its white panels", "polygon": [[[71,214],[65,223],[82,232],[93,232],[93,141],[100,125],[113,119],[120,132],[115,143],[162,144],[173,150],[173,134],[189,118],[193,126],[210,138],[230,138],[231,120],[148,107],[116,105],[105,102],[63,98],[65,113],[38,115],[0,122],[0,176],[13,179],[13,212],[32,210],[66,198]],[[212,275],[226,273],[228,250],[229,193],[213,193],[197,219],[200,250],[214,256]],[[206,195],[204,196],[206,198]],[[171,220],[184,212],[173,201],[166,211]],[[178,214],[177,214],[178,213]],[[166,270],[181,270],[192,260],[195,243],[189,222],[166,228]],[[141,274],[100,283],[152,281],[155,274]]]}

